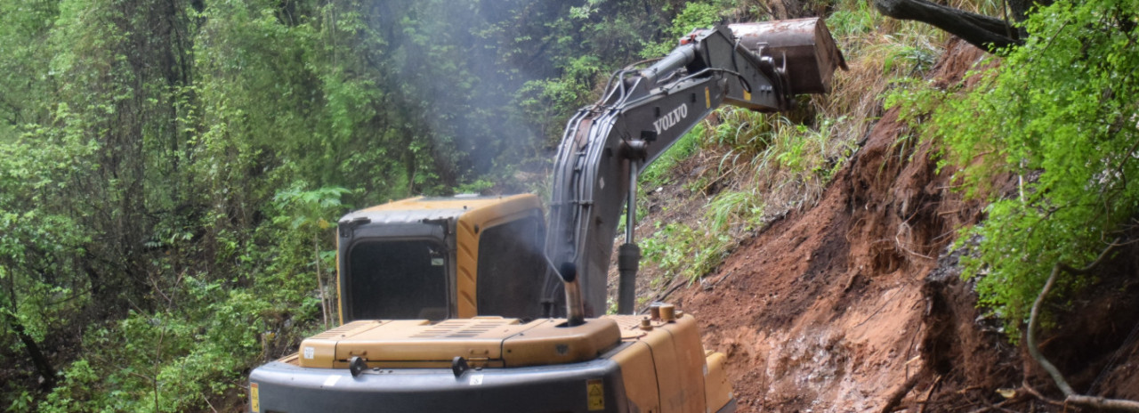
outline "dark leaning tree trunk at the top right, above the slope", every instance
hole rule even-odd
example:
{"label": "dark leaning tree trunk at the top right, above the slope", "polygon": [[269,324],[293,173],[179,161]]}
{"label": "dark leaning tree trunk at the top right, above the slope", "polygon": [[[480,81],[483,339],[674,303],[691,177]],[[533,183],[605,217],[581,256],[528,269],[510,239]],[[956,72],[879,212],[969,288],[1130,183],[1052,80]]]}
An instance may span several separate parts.
{"label": "dark leaning tree trunk at the top right, above the slope", "polygon": [[1022,42],[1017,30],[1006,21],[926,0],[874,0],[874,7],[893,18],[934,25],[990,52]]}

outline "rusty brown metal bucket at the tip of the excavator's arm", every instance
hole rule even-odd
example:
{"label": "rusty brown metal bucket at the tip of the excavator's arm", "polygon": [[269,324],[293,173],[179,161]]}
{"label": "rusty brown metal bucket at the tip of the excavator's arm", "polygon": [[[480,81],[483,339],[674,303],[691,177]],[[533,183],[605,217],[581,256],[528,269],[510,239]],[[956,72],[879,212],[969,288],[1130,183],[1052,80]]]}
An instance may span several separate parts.
{"label": "rusty brown metal bucket at the tip of the excavator's arm", "polygon": [[739,44],[770,56],[790,83],[790,95],[828,94],[835,68],[847,70],[842,51],[821,18],[728,25]]}

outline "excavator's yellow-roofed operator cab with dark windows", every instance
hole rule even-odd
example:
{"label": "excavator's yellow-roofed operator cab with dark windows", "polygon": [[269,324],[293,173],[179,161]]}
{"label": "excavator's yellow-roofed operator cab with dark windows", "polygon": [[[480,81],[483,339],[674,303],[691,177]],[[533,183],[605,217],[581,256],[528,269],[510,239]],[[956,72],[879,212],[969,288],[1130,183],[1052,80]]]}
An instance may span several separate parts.
{"label": "excavator's yellow-roofed operator cab with dark windows", "polygon": [[344,216],[337,233],[343,323],[535,318],[549,307],[546,224],[534,195],[390,202]]}

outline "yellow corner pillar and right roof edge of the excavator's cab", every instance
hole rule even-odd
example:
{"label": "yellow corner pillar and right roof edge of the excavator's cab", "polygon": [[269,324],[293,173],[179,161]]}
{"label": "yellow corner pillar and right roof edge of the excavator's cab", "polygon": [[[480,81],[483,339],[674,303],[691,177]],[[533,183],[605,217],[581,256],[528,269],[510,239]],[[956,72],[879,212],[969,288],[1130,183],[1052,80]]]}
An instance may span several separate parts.
{"label": "yellow corner pillar and right roof edge of the excavator's cab", "polygon": [[[478,314],[478,234],[486,228],[536,214],[541,219],[542,203],[533,194],[486,200],[459,217],[456,225],[457,268],[456,294],[459,317]],[[502,251],[510,253],[510,251]]]}

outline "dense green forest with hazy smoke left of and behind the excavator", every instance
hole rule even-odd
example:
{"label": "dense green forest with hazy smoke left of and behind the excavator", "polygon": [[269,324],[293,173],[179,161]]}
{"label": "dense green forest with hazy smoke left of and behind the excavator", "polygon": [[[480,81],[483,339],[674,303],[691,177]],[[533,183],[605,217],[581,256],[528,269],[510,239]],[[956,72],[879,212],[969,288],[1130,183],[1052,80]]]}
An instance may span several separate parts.
{"label": "dense green forest with hazy smoke left of and behind the excavator", "polygon": [[540,185],[595,79],[682,10],[0,2],[0,408],[241,403],[251,366],[335,323],[329,222]]}

